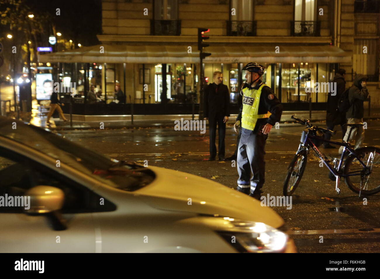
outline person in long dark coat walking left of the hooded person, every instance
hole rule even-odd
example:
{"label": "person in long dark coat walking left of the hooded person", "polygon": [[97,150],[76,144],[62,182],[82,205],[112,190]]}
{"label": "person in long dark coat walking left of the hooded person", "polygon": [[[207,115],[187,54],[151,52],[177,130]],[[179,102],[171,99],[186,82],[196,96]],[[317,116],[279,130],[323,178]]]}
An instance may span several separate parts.
{"label": "person in long dark coat walking left of the hooded person", "polygon": [[[339,99],[346,89],[346,70],[339,69],[334,76],[332,82],[336,82],[336,91],[335,95],[329,94],[327,97],[327,108],[326,108],[326,126],[327,129],[333,131],[336,125],[340,125],[342,128],[342,139],[346,133],[346,126],[343,126],[346,123],[346,112],[340,112],[338,109]],[[325,139],[330,140],[331,135],[325,133]],[[335,148],[333,145],[328,142],[323,143],[324,148]]]}

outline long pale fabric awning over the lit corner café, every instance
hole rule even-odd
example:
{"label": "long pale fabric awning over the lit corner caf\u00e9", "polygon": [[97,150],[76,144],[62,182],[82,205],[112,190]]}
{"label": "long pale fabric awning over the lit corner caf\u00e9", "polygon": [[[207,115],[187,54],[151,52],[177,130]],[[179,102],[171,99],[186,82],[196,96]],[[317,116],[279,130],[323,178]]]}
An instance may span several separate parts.
{"label": "long pale fabric awning over the lit corner caf\u00e9", "polygon": [[[104,47],[104,53],[102,48]],[[42,63],[199,63],[197,45],[97,45],[40,54]],[[276,53],[276,49],[277,52]],[[336,46],[218,44],[209,46],[204,63],[345,63],[351,55]]]}

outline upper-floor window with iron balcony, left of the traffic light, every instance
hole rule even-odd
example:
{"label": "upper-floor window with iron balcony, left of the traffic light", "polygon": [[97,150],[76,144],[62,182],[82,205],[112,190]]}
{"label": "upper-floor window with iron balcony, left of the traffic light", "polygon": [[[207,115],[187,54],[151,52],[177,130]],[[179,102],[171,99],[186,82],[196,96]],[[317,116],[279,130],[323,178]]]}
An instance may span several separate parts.
{"label": "upper-floor window with iron balcony, left of the traffic light", "polygon": [[178,20],[178,0],[154,0],[154,19],[150,21],[150,35],[181,34]]}

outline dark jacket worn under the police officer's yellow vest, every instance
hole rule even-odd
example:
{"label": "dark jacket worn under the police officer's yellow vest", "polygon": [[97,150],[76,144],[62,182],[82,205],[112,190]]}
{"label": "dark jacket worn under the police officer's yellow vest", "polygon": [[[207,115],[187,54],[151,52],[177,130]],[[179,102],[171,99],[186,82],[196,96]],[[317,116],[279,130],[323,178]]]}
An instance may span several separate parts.
{"label": "dark jacket worn under the police officer's yellow vest", "polygon": [[[259,80],[253,89],[259,89],[262,81]],[[250,85],[245,84],[243,88],[250,87]],[[272,95],[272,96],[270,96]],[[241,121],[241,113],[243,111],[243,104],[241,104],[241,107],[239,109],[239,115],[237,115],[236,120]],[[282,115],[282,104],[279,99],[273,94],[272,89],[269,86],[264,86],[263,89],[261,89],[261,95],[260,95],[260,101],[259,101],[259,109],[258,114],[264,114],[267,112],[272,113],[269,118],[258,118],[256,122],[255,129],[253,130],[253,133],[257,133],[258,129],[260,130],[263,128],[265,124],[271,124],[274,126],[276,122],[280,122],[281,115]]]}

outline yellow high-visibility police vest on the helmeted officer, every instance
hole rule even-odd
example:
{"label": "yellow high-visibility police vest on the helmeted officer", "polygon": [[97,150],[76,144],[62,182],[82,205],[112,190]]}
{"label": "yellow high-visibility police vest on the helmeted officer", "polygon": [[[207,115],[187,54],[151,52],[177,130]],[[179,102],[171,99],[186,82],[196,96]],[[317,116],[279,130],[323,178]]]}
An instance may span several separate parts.
{"label": "yellow high-visibility police vest on the helmeted officer", "polygon": [[261,89],[265,84],[261,84],[259,89],[243,88],[243,110],[241,114],[241,126],[245,129],[254,130],[258,118],[268,118],[270,113],[257,114],[259,111]]}

